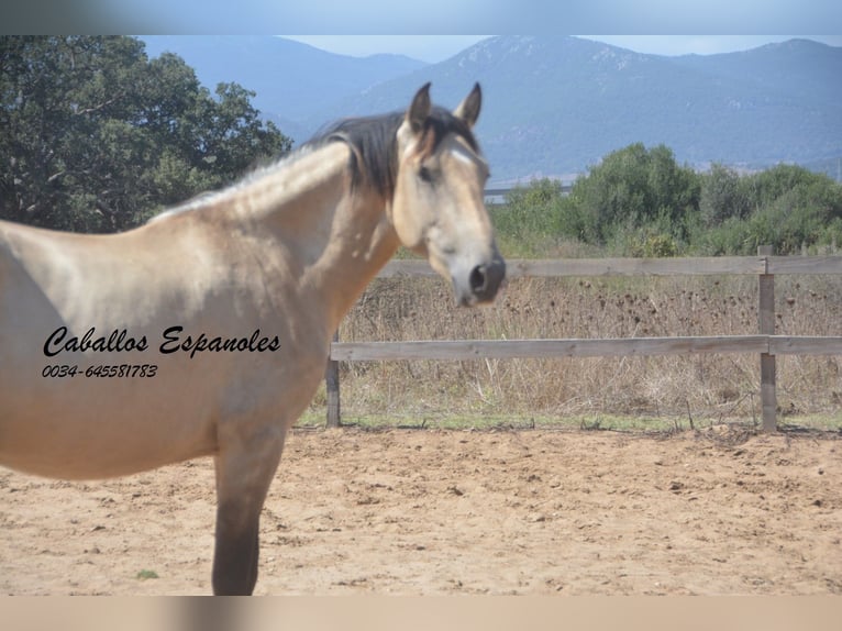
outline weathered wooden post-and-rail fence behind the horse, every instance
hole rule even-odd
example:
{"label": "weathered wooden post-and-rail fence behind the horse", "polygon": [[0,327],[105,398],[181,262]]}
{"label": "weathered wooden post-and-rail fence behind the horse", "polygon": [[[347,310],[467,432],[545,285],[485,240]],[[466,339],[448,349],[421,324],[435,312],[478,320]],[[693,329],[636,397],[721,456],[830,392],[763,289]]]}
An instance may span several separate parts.
{"label": "weathered wooden post-and-rail fence behind the horse", "polygon": [[[334,335],[328,363],[328,427],[341,424],[339,362],[480,359],[485,357],[610,357],[693,353],[756,353],[760,356],[763,430],[777,428],[775,357],[842,355],[842,336],[775,335],[775,275],[842,275],[842,256],[706,258],[569,258],[507,261],[507,277],[753,275],[758,281],[756,335],[627,337],[597,340],[445,340],[340,342]],[[392,261],[379,277],[435,276],[425,261]]]}

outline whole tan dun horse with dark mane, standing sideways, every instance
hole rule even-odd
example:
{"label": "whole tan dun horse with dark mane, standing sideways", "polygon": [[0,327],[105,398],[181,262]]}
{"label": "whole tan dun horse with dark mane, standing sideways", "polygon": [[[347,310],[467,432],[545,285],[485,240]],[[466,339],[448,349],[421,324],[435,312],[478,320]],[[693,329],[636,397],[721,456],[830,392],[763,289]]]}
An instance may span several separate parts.
{"label": "whole tan dun horse with dark mane, standing sideways", "polygon": [[346,120],[122,234],[0,222],[0,465],[59,478],[212,455],[215,594],[251,594],[258,520],[333,331],[399,244],[463,306],[506,266],[475,86],[450,112]]}

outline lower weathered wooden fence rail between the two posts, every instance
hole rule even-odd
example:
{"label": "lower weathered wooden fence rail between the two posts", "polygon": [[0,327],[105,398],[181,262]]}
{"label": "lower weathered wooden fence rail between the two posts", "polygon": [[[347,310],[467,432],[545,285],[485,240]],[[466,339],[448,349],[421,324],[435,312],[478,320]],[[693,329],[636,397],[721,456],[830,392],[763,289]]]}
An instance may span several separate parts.
{"label": "lower weathered wooden fence rail between the two posts", "polygon": [[486,357],[616,357],[691,353],[764,353],[765,335],[699,337],[627,337],[608,340],[435,340],[342,342],[331,345],[331,359],[480,359]]}

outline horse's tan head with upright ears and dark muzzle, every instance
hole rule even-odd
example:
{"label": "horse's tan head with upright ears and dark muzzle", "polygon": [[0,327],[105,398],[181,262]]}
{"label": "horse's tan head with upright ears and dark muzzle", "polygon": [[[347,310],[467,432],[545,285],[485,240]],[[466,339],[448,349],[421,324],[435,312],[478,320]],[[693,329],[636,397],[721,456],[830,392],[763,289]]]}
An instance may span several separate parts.
{"label": "horse's tan head with upright ears and dark muzzle", "polygon": [[494,300],[506,276],[484,202],[488,164],[472,132],[480,104],[477,84],[453,112],[434,107],[426,84],[397,132],[395,230],[453,284],[463,306]]}

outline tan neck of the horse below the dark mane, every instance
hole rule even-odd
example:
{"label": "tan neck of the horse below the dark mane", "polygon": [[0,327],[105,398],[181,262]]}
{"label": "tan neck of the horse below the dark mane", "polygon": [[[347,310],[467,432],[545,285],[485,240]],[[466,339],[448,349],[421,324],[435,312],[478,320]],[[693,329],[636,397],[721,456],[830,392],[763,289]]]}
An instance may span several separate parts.
{"label": "tan neck of the horse below the dark mane", "polygon": [[383,196],[365,186],[352,191],[350,152],[334,142],[281,164],[255,180],[246,204],[331,331],[399,243]]}

